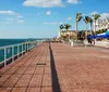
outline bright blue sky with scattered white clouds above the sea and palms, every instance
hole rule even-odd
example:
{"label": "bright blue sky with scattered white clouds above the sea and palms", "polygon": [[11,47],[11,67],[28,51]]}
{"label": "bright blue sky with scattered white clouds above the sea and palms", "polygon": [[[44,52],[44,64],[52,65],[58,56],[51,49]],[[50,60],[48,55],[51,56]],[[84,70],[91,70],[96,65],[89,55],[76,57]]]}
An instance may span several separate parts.
{"label": "bright blue sky with scattered white clouds above the sea and palms", "polygon": [[[75,29],[75,15],[109,16],[108,0],[0,0],[0,38],[50,38],[59,25]],[[85,29],[84,22],[78,29]]]}

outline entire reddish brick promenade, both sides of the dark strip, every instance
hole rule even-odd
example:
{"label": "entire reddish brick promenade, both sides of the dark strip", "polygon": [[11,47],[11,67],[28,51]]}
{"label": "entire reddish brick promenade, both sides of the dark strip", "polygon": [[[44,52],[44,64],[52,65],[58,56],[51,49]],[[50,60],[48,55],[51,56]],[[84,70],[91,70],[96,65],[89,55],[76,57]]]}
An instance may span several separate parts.
{"label": "entire reddish brick promenade, both sides of the dark strip", "polygon": [[43,43],[0,69],[0,92],[109,92],[109,50]]}

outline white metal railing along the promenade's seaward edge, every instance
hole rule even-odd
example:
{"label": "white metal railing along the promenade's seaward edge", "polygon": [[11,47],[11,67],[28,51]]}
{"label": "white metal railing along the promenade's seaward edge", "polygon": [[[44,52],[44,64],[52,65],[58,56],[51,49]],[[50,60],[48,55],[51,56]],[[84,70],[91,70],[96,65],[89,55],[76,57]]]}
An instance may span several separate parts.
{"label": "white metal railing along the promenade's seaward edge", "polygon": [[[24,53],[28,52],[31,49],[35,48],[39,44],[39,41],[26,41],[23,43],[12,44],[12,45],[5,45],[0,47],[0,50],[3,51],[3,61],[0,61],[0,64],[3,64],[3,66],[7,66],[8,60],[12,58],[12,62],[14,62],[15,56],[22,56]],[[9,53],[11,56],[8,57],[8,49],[10,49]],[[16,53],[15,53],[16,52]]]}

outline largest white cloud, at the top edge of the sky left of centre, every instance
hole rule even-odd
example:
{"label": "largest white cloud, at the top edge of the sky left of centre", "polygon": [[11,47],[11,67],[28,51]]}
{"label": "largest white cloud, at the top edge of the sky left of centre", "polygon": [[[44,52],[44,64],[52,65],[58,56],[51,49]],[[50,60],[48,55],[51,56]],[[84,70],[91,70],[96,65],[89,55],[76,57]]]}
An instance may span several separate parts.
{"label": "largest white cloud, at the top edge of the sky left of centre", "polygon": [[62,0],[26,0],[23,5],[37,8],[62,6]]}

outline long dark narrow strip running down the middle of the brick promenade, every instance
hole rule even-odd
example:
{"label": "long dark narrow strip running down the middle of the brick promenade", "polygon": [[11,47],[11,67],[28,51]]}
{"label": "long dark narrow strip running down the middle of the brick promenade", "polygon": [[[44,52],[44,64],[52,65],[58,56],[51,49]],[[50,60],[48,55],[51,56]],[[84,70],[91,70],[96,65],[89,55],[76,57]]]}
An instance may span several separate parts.
{"label": "long dark narrow strip running down the middle of the brick promenade", "polygon": [[50,62],[51,62],[50,66],[51,66],[51,79],[52,79],[52,92],[61,92],[50,43],[49,43],[49,51],[50,51]]}

